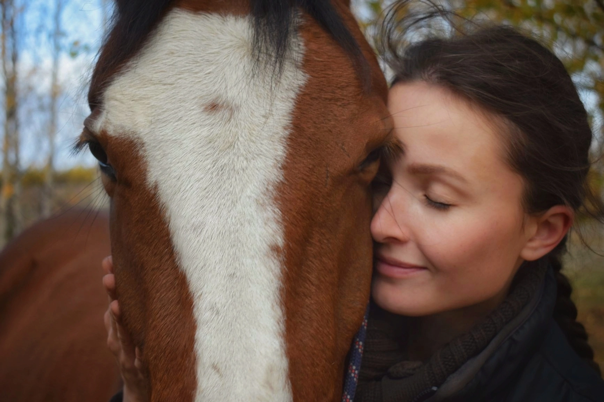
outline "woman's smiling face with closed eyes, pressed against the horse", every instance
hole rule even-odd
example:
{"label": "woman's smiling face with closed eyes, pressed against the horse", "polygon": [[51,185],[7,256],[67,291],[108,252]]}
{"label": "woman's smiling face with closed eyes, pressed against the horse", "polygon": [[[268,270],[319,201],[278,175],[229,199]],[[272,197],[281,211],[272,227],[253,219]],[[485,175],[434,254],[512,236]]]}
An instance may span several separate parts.
{"label": "woman's smiling face with closed eyes, pressed against the horse", "polygon": [[403,153],[371,222],[374,300],[422,316],[500,299],[528,240],[503,137],[488,113],[432,84],[396,84],[388,108]]}

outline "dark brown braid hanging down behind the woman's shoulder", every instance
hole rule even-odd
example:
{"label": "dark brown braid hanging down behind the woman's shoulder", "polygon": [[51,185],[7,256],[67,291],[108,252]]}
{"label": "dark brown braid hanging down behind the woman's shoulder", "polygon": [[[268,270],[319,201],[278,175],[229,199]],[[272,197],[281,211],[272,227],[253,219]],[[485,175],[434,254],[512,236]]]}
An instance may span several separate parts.
{"label": "dark brown braid hanging down behind the woman's shoulder", "polygon": [[550,256],[550,263],[554,269],[554,274],[556,274],[557,283],[556,306],[554,307],[553,317],[575,353],[582,357],[599,375],[602,375],[600,366],[594,361],[594,350],[587,342],[588,335],[585,327],[577,321],[577,307],[570,298],[573,287],[566,275],[561,272],[562,262],[560,257]]}

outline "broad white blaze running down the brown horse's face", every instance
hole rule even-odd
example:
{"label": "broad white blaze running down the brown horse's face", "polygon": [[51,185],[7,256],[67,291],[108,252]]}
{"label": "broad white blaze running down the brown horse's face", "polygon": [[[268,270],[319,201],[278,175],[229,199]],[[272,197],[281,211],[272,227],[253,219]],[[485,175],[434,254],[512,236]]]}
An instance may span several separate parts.
{"label": "broad white blaze running down the brown horse's face", "polygon": [[170,11],[104,92],[97,126],[140,143],[165,208],[193,296],[196,401],[292,399],[275,189],[306,75],[292,60],[278,83],[254,70],[251,38],[247,17]]}

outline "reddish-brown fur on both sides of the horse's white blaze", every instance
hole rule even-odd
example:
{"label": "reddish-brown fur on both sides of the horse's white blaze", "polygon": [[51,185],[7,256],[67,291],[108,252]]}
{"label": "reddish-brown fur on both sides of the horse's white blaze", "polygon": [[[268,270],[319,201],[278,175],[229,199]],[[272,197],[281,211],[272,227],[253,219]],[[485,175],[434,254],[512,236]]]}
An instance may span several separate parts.
{"label": "reddish-brown fur on both sides of the horse's white blaze", "polygon": [[[118,10],[126,10],[133,3],[136,2],[118,1]],[[290,63],[289,66],[295,64],[306,78],[289,116],[284,159],[275,162],[274,169],[282,171],[281,179],[277,186],[266,190],[267,196],[262,202],[274,204],[282,219],[278,223],[283,232],[283,244],[271,246],[270,255],[263,258],[277,262],[281,271],[278,301],[266,307],[283,316],[280,342],[287,359],[286,370],[283,373],[279,371],[281,368],[269,369],[262,383],[244,385],[229,383],[230,378],[237,378],[237,373],[225,371],[216,363],[207,368],[212,373],[201,373],[214,375],[213,378],[219,378],[224,384],[231,384],[231,388],[249,386],[252,391],[260,387],[267,395],[281,386],[280,375],[286,375],[285,388],[277,391],[281,392],[278,395],[289,396],[280,397],[279,402],[338,401],[341,398],[345,356],[362,321],[370,290],[370,181],[376,173],[377,163],[364,163],[364,160],[375,149],[389,145],[390,120],[385,107],[387,86],[348,3],[334,0],[333,6],[367,59],[367,77],[359,74],[363,72],[359,66],[365,61],[355,61],[354,46],[349,43],[347,49],[342,48],[342,42],[336,41],[327,33],[326,27],[308,13],[300,14],[301,23],[296,30],[303,43],[304,56],[299,61],[284,61]],[[131,68],[129,63],[132,60],[138,63],[136,56],[141,49],[144,51],[147,36],[153,36],[170,10],[179,8],[195,15],[242,16],[249,13],[249,5],[240,0],[179,0],[150,2],[149,7],[155,7],[153,16],[147,16],[148,19],[139,25],[129,18],[118,18],[116,28],[104,45],[89,92],[92,115],[87,119],[81,141],[98,144],[106,154],[106,157],[100,156],[101,162],[111,166],[101,170],[112,169],[109,173],[103,170],[103,183],[112,199],[111,251],[117,294],[124,324],[144,353],[151,400],[198,401],[202,398],[199,395],[212,392],[199,384],[200,374],[196,371],[199,356],[207,359],[204,353],[211,352],[199,350],[196,345],[199,334],[204,335],[205,331],[204,327],[198,327],[199,315],[209,315],[215,320],[213,322],[249,317],[233,318],[219,307],[212,310],[212,300],[207,300],[207,296],[197,289],[203,283],[191,282],[187,276],[190,272],[185,271],[183,257],[179,256],[175,245],[175,233],[171,231],[170,205],[162,201],[162,189],[145,180],[151,174],[146,155],[149,145],[137,140],[140,133],[130,134],[129,125],[124,121],[118,129],[115,125],[105,127],[104,101],[110,89],[114,96],[114,115],[133,113],[124,106],[126,104],[115,101],[115,96],[121,96],[121,89],[125,87],[116,89],[112,85],[121,85],[119,80],[123,77],[135,80],[144,70],[144,66]],[[132,39],[133,36],[127,33],[131,25],[136,25],[139,34],[142,33],[138,39]],[[343,37],[345,39],[345,35]],[[203,51],[199,49],[199,52]],[[151,77],[155,80],[158,76]],[[367,80],[369,86],[365,85]],[[142,90],[146,90],[145,87]],[[133,95],[143,96],[139,98],[140,102],[146,101],[145,95],[134,91]],[[118,104],[121,106],[116,107]],[[238,112],[236,107],[220,98],[199,106],[199,113],[224,118],[225,124]],[[132,110],[136,107],[135,104]],[[116,111],[116,108],[125,110]],[[147,118],[144,110],[137,113],[131,115],[133,123]],[[228,149],[235,149],[230,146]],[[197,182],[195,185],[203,184]],[[229,201],[224,200],[223,209],[230,208]],[[237,247],[245,250],[245,243]],[[101,257],[97,256],[98,263]],[[233,280],[236,275],[233,274]],[[100,286],[100,277],[95,286]],[[196,312],[195,303],[201,302],[210,303],[210,310]],[[102,310],[99,310],[99,326],[102,325]],[[254,329],[249,328],[250,331]],[[53,335],[59,334],[65,336],[63,332]],[[99,336],[104,336],[102,327]],[[246,342],[245,337],[241,339]],[[243,346],[246,350],[255,347],[252,344]],[[222,359],[226,364],[230,356],[222,356]],[[254,365],[255,362],[249,363]],[[245,369],[240,367],[241,371]],[[226,400],[216,397],[215,392],[213,395],[213,401]],[[61,400],[68,399],[63,397]]]}

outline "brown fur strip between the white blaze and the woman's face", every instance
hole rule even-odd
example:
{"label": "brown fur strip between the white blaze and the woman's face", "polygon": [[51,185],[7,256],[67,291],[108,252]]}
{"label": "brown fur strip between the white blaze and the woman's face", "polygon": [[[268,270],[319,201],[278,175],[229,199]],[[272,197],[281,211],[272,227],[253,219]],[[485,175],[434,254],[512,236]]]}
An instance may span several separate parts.
{"label": "brown fur strip between the white blaze and the woman's face", "polygon": [[[313,74],[299,95],[292,122],[295,135],[290,136],[285,178],[277,190],[281,212],[288,218],[282,297],[289,377],[297,401],[341,398],[343,357],[369,298],[372,249],[365,228],[371,218],[368,185],[375,171],[349,172],[390,131],[390,121],[382,119],[384,78],[352,15],[345,7],[339,11],[364,45],[374,92],[362,95],[352,68],[334,69],[350,66],[347,55],[316,24],[304,25],[301,34],[309,57],[303,69],[321,74]],[[324,53],[331,57],[311,56]],[[323,90],[329,87],[338,90]],[[319,105],[328,119],[313,116]],[[318,166],[309,169],[307,160]],[[301,177],[306,178],[303,184],[298,183]],[[292,187],[293,193],[288,191]]]}

